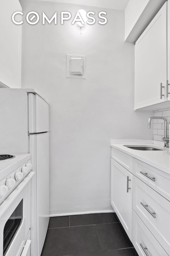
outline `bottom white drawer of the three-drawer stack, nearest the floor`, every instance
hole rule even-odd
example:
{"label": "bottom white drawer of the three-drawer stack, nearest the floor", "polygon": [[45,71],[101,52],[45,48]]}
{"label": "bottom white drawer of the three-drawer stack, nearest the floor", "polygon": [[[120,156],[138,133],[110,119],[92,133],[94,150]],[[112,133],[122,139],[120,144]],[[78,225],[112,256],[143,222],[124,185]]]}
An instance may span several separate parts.
{"label": "bottom white drawer of the three-drawer stack, nearest the floor", "polygon": [[[149,256],[168,256],[134,211],[132,211],[132,243],[139,256],[146,256],[146,253]],[[147,247],[146,253],[141,245]]]}

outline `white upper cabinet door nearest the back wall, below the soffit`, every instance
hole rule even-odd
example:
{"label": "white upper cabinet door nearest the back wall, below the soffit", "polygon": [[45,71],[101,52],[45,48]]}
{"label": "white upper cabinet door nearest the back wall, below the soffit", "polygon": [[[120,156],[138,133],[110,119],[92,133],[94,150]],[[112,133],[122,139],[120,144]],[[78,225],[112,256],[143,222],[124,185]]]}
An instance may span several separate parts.
{"label": "white upper cabinet door nearest the back wall, below the soffit", "polygon": [[135,43],[135,109],[166,101],[166,80],[167,2]]}

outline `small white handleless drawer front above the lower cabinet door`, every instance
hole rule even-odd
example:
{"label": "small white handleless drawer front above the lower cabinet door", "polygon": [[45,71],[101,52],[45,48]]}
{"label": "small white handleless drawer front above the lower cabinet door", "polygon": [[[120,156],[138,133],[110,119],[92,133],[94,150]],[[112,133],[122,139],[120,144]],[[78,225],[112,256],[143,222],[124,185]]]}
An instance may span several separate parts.
{"label": "small white handleless drawer front above the lower cabinet door", "polygon": [[133,159],[132,156],[129,156],[124,152],[121,152],[115,148],[112,148],[111,157],[121,166],[126,168],[126,170],[132,172],[132,159]]}

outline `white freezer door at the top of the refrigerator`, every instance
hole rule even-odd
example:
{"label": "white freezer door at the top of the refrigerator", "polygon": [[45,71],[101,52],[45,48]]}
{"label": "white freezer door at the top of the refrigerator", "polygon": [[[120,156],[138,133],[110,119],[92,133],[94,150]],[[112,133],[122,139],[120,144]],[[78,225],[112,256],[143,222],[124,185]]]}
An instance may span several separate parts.
{"label": "white freezer door at the top of the refrigerator", "polygon": [[49,131],[49,105],[39,95],[28,93],[28,132]]}

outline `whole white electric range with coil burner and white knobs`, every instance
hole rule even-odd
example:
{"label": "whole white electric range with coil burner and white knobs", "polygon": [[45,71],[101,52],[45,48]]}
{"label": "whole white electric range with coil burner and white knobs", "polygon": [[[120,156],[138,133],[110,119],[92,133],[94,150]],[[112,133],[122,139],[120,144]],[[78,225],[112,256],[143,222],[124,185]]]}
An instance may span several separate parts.
{"label": "whole white electric range with coil burner and white knobs", "polygon": [[30,157],[0,155],[0,256],[30,256]]}

